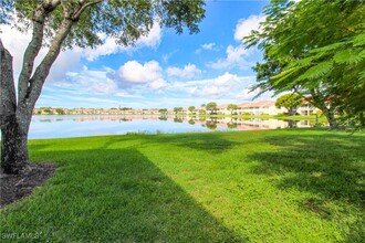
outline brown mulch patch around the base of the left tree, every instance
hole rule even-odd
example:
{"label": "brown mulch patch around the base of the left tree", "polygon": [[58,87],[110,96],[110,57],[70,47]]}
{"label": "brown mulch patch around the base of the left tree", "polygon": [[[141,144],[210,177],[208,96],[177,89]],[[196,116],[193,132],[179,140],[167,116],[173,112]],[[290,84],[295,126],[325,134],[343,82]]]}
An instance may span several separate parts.
{"label": "brown mulch patch around the base of the left tree", "polygon": [[34,188],[42,186],[53,176],[56,168],[58,166],[52,163],[33,163],[18,175],[0,172],[0,208],[32,193]]}

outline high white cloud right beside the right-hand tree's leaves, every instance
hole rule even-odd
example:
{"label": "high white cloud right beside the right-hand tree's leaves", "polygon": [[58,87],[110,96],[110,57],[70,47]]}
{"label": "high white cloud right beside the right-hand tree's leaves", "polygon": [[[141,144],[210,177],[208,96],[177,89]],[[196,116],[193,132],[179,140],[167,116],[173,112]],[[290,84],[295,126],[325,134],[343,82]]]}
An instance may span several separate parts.
{"label": "high white cloud right beside the right-hand tree's leaves", "polygon": [[236,25],[234,40],[242,41],[242,38],[250,35],[252,30],[259,30],[260,22],[263,22],[265,15],[250,15],[248,19],[240,19]]}

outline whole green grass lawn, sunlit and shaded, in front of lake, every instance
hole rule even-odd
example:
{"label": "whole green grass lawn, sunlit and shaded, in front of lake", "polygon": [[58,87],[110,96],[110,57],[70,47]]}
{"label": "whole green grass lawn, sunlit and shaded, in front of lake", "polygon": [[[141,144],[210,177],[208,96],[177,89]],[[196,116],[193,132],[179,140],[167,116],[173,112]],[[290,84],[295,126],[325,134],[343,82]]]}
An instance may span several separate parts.
{"label": "whole green grass lawn, sunlit and shaded, in front of lake", "polygon": [[[365,134],[279,129],[31,140],[60,168],[1,209],[23,242],[363,242]],[[39,236],[39,237],[38,237]]]}

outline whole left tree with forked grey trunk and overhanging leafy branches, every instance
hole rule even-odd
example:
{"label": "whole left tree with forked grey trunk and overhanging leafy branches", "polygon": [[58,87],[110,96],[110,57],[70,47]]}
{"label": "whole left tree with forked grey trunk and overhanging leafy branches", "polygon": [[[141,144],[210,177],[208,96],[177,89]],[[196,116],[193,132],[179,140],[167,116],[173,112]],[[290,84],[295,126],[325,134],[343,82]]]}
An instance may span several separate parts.
{"label": "whole left tree with forked grey trunk and overhanging leafy branches", "polygon": [[[177,33],[199,31],[205,17],[202,0],[4,0],[0,22],[21,22],[32,39],[23,55],[23,66],[14,85],[11,53],[0,39],[1,168],[17,173],[29,161],[28,131],[32,110],[50,68],[62,49],[95,47],[100,33],[118,44],[132,45],[148,34],[154,24],[174,28]],[[7,13],[7,15],[4,14]],[[43,45],[49,51],[38,66],[34,60]]]}

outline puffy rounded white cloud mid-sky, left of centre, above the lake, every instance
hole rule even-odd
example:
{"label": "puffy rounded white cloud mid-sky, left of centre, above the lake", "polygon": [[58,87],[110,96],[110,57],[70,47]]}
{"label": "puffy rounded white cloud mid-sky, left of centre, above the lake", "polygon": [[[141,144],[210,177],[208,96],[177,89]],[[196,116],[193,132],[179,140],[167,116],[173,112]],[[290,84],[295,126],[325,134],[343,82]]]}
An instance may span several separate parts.
{"label": "puffy rounded white cloud mid-sky, left of centre, above the lake", "polygon": [[127,83],[144,84],[163,77],[158,62],[149,61],[140,64],[137,61],[128,61],[118,70],[118,76]]}

